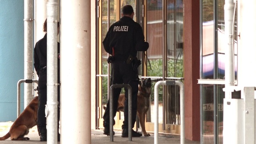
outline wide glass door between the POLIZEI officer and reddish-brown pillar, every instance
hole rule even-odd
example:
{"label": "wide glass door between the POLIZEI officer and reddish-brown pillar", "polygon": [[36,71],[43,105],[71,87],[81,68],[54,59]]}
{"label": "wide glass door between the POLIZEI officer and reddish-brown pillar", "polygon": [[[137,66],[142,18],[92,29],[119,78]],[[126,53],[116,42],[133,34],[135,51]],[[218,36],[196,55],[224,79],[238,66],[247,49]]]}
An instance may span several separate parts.
{"label": "wide glass door between the POLIZEI officer and reddish-brown pillar", "polygon": [[[182,80],[183,76],[183,0],[147,0],[147,76],[153,86],[159,80]],[[180,98],[176,86],[159,87],[159,132],[179,134]],[[154,130],[154,87],[148,128]]]}

